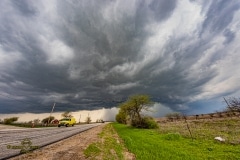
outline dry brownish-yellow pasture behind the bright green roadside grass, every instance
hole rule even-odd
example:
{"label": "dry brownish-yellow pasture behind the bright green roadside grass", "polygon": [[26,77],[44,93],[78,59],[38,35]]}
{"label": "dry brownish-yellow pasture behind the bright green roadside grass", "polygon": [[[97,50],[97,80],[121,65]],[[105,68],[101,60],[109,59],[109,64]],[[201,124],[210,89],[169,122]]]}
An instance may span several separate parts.
{"label": "dry brownish-yellow pasture behind the bright green roadside grass", "polygon": [[226,140],[227,144],[240,145],[240,119],[237,117],[188,120],[187,122],[181,120],[159,125],[159,132],[162,134],[179,133],[185,138],[197,140],[213,140],[214,137],[220,136]]}

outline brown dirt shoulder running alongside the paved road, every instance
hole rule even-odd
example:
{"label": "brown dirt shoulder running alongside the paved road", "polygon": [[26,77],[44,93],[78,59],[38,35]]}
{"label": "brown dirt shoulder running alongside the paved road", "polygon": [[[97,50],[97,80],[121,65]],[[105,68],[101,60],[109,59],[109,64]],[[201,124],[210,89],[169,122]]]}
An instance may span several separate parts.
{"label": "brown dirt shoulder running alongside the paved road", "polygon": [[31,153],[11,158],[11,160],[85,160],[84,149],[89,144],[99,141],[98,134],[101,133],[105,125],[92,128]]}

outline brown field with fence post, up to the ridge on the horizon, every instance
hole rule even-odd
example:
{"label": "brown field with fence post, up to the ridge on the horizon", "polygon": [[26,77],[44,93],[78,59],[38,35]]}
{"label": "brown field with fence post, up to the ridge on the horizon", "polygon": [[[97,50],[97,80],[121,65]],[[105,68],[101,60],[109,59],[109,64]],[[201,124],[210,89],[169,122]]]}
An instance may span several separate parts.
{"label": "brown field with fence post, up to the ridge on the horizon", "polygon": [[161,133],[179,133],[192,139],[213,140],[215,137],[225,139],[224,143],[240,144],[240,117],[236,113],[229,116],[225,112],[204,115],[157,118]]}

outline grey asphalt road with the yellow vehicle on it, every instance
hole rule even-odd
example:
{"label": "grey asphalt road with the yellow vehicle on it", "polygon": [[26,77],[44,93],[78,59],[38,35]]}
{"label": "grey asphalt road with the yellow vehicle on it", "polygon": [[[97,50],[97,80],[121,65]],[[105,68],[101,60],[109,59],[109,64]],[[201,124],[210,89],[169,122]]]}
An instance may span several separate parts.
{"label": "grey asphalt road with the yellow vehicle on it", "polygon": [[86,131],[96,124],[75,125],[74,127],[21,128],[0,130],[0,159],[19,155],[29,148],[43,147]]}

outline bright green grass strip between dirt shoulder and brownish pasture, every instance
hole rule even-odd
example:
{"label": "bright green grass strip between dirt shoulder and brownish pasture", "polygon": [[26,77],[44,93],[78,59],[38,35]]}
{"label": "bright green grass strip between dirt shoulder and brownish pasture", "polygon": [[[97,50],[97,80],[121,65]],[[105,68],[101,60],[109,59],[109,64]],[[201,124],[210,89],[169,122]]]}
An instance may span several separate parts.
{"label": "bright green grass strip between dirt shoulder and brownish pasture", "polygon": [[240,145],[218,143],[212,138],[192,140],[178,132],[182,128],[163,133],[112,125],[137,160],[240,160]]}

